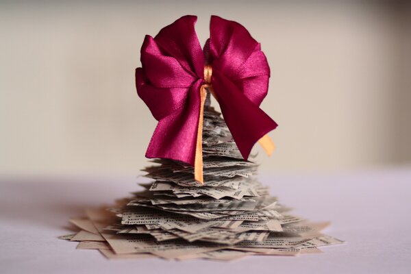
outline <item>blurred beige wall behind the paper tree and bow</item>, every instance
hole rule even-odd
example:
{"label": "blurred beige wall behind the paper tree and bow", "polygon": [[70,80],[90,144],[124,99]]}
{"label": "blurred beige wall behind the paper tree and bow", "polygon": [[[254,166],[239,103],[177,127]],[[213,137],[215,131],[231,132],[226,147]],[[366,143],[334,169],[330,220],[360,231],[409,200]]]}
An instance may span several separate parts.
{"label": "blurred beige wall behind the paper tree and bow", "polygon": [[263,172],[407,165],[411,13],[375,2],[1,1],[0,174],[138,173],[156,124],[134,86],[140,46],[184,14],[202,43],[211,14],[262,43],[279,124]]}

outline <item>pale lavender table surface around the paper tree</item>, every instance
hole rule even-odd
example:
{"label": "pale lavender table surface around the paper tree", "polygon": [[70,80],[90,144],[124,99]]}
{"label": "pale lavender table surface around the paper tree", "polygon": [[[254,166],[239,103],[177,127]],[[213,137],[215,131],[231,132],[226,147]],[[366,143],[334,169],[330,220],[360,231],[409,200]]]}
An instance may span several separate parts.
{"label": "pale lavender table surface around the paper tree", "polygon": [[260,175],[294,213],[331,221],[346,240],[322,254],[233,262],[106,260],[75,250],[71,216],[136,190],[135,177],[0,178],[1,273],[411,273],[411,169],[327,175]]}

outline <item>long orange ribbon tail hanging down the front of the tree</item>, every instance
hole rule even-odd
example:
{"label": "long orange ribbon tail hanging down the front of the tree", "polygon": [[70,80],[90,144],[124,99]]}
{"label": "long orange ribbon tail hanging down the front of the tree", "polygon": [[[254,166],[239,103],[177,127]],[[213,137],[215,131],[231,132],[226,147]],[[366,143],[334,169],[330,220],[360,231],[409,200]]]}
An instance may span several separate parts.
{"label": "long orange ribbon tail hanging down the front of the tree", "polygon": [[197,145],[195,147],[195,162],[194,162],[194,179],[197,182],[204,184],[203,179],[203,114],[204,103],[207,97],[207,85],[200,87],[200,113],[199,113],[199,127],[197,129]]}

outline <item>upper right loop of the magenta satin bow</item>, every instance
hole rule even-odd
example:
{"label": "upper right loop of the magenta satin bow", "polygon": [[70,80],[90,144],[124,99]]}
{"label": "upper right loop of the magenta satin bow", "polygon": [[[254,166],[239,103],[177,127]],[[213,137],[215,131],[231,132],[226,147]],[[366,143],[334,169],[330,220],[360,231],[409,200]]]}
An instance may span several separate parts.
{"label": "upper right loop of the magenta satin bow", "polygon": [[[210,29],[210,64],[250,101],[260,105],[267,94],[270,77],[270,67],[260,43],[239,23],[219,16],[211,17]],[[216,92],[219,91],[216,89]]]}

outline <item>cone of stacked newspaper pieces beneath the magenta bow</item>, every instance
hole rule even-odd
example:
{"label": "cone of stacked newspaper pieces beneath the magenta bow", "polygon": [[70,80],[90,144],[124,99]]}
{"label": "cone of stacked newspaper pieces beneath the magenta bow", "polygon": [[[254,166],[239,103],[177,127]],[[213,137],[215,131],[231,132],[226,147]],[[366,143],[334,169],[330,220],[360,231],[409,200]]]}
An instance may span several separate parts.
{"label": "cone of stacked newspaper pieces beneath the magenta bow", "polygon": [[289,213],[256,180],[258,164],[242,160],[221,114],[206,108],[203,120],[204,185],[192,166],[156,159],[144,171],[153,181],[116,206],[87,210],[72,219],[80,229],[62,238],[107,258],[234,260],[249,255],[321,253],[343,242]]}

